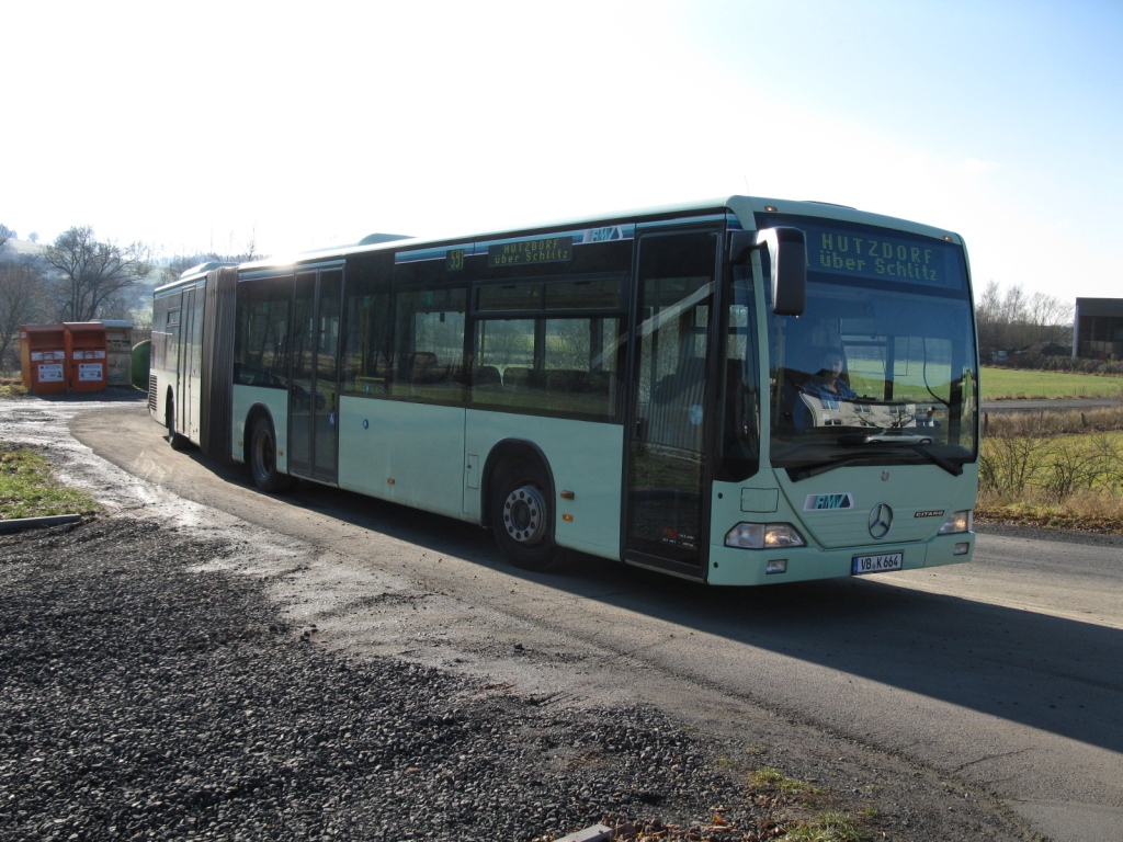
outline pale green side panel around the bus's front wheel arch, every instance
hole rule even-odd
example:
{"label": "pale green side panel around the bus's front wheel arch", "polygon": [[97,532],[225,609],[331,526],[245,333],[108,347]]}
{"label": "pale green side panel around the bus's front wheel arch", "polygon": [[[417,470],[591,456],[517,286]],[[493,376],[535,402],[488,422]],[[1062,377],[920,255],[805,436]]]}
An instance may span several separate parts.
{"label": "pale green side panel around the bus's front wheel arch", "polygon": [[[492,448],[503,439],[522,439],[545,454],[558,495],[555,497],[555,538],[559,546],[604,558],[620,558],[620,493],[623,428],[559,418],[469,411],[465,464],[482,470]],[[475,458],[474,458],[475,457]],[[466,481],[465,481],[466,482]],[[464,507],[478,519],[486,501],[483,483],[465,488]],[[564,520],[563,515],[572,520]]]}

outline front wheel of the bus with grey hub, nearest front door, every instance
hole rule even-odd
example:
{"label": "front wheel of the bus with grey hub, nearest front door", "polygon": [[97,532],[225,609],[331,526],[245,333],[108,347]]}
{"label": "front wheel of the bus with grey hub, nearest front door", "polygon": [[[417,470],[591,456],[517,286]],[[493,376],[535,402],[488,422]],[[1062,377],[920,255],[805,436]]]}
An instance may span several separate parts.
{"label": "front wheel of the bus with grey hub, nearest front door", "polygon": [[491,524],[515,567],[544,573],[565,559],[554,541],[554,505],[546,472],[519,460],[501,465],[491,483]]}

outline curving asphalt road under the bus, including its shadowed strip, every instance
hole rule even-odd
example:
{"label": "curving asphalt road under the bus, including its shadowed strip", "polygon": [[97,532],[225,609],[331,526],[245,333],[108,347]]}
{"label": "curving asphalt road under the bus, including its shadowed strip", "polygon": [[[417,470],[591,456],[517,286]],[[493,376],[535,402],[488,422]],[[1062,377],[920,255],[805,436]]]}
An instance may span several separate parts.
{"label": "curving asphalt road under the bus, including its shadowed strip", "polygon": [[[784,717],[992,793],[1054,840],[1123,840],[1121,547],[982,534],[968,566],[739,591],[592,558],[539,576],[468,524],[326,488],[258,494],[172,451],[143,405],[71,429],[174,495],[362,561],[325,564],[289,595],[334,646],[715,723]],[[390,579],[423,617],[364,603]],[[511,641],[551,657],[515,663]]]}

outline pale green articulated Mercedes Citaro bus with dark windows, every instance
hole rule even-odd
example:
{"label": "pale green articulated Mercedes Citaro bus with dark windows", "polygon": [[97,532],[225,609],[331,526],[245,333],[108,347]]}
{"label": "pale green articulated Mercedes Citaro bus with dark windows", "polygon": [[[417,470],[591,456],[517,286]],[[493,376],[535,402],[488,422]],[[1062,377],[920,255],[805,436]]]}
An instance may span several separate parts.
{"label": "pale green articulated Mercedes Citaro bus with dark windows", "polygon": [[175,448],[713,585],[967,561],[978,354],[956,234],[732,196],[373,235],[156,290]]}

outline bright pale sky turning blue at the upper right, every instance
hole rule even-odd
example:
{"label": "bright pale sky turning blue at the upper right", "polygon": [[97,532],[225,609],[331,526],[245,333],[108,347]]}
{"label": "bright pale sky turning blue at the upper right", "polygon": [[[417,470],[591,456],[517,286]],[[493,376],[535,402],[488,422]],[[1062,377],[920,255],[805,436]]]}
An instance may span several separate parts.
{"label": "bright pale sky turning blue at the upper right", "polygon": [[20,237],[271,254],[751,193],[1123,298],[1123,0],[13,6]]}

